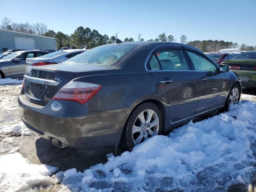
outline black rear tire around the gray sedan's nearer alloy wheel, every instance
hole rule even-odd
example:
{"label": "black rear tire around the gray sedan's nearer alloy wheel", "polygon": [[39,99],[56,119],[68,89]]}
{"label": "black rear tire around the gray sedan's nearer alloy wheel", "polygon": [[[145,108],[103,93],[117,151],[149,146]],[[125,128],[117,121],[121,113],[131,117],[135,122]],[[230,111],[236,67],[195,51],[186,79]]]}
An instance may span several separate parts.
{"label": "black rear tire around the gray sedan's nearer alloy wheel", "polygon": [[[128,118],[125,126],[124,126],[124,131],[123,131],[123,137],[122,137],[122,146],[124,147],[125,150],[132,150],[134,148],[134,140],[133,140],[133,134],[132,134],[132,128],[134,124],[136,123],[135,121],[137,120],[138,115],[145,111],[145,110],[153,110],[159,120],[159,127],[158,127],[158,135],[162,134],[162,129],[163,129],[163,120],[162,120],[162,115],[159,110],[159,108],[152,103],[143,103],[139,105],[137,108],[134,109],[132,114],[130,114],[130,117]],[[145,132],[146,133],[146,132]],[[143,138],[144,140],[144,138]],[[143,142],[142,140],[142,142]]]}

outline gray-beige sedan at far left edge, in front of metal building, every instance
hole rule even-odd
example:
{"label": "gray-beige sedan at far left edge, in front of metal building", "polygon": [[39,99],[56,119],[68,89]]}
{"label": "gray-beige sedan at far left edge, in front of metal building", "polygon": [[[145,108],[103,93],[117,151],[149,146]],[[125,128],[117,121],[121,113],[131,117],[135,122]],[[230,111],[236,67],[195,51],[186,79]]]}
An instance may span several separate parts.
{"label": "gray-beige sedan at far left edge, in front of metal building", "polygon": [[11,77],[20,78],[23,77],[26,67],[26,58],[33,58],[48,54],[47,51],[28,50],[17,51],[5,56],[0,60],[0,78]]}

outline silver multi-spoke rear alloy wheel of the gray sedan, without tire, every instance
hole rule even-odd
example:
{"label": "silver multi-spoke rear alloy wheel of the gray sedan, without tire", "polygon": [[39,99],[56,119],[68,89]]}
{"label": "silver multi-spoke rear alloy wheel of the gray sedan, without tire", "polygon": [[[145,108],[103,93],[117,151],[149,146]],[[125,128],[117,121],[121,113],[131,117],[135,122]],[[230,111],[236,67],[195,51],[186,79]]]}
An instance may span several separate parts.
{"label": "silver multi-spoke rear alloy wheel of the gray sedan, without tire", "polygon": [[137,116],[132,127],[132,140],[138,145],[147,138],[157,135],[158,131],[158,115],[152,109],[144,110]]}

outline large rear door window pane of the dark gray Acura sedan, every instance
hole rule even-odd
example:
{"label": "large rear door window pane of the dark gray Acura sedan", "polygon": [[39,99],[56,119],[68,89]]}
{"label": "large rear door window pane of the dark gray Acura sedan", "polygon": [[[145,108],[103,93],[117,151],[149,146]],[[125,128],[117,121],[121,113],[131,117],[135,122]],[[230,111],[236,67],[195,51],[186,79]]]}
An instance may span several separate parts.
{"label": "large rear door window pane of the dark gray Acura sedan", "polygon": [[163,70],[189,70],[182,50],[164,50],[156,55]]}

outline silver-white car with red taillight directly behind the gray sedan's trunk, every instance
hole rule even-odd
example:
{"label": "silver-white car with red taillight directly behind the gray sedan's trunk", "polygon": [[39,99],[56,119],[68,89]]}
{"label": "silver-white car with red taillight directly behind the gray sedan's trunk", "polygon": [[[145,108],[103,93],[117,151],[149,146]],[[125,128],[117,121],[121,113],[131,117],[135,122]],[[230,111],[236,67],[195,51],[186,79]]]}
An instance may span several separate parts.
{"label": "silver-white car with red taillight directly behind the gray sedan's trunk", "polygon": [[86,50],[82,49],[68,49],[64,51],[56,51],[47,55],[43,55],[37,58],[27,58],[27,66],[40,66],[40,65],[51,65],[62,63],[80,53],[85,52]]}

